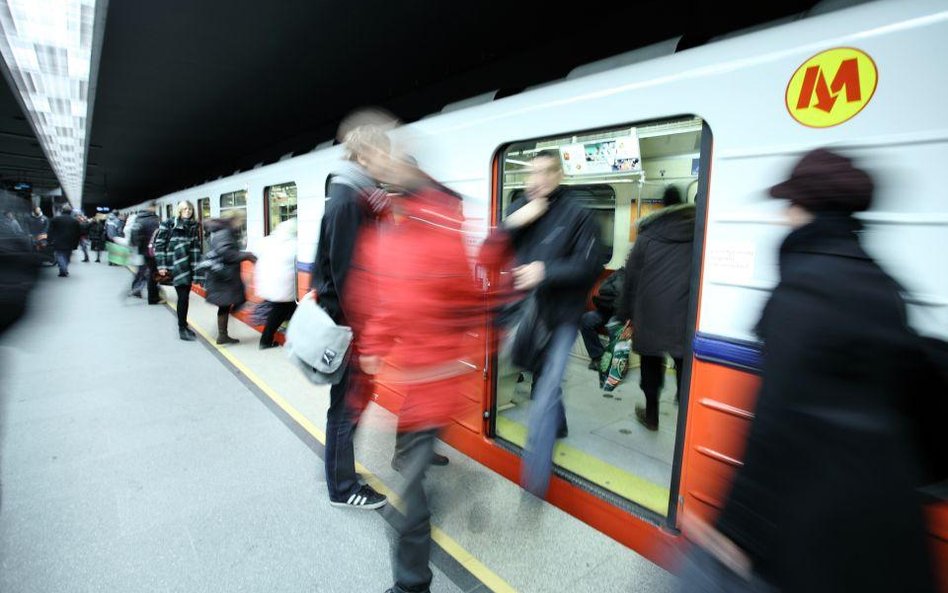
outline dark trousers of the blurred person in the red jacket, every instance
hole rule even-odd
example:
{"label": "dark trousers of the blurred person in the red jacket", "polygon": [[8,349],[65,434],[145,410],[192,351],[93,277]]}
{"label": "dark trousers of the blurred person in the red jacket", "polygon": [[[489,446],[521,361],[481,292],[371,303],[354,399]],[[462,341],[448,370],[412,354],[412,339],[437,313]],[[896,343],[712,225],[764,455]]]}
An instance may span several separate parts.
{"label": "dark trousers of the blurred person in the red jacket", "polygon": [[395,437],[395,448],[402,459],[402,476],[405,478],[401,495],[405,514],[396,519],[398,536],[392,554],[394,591],[397,593],[426,592],[431,586],[431,510],[424,480],[434,457],[437,437],[437,429],[400,432]]}

